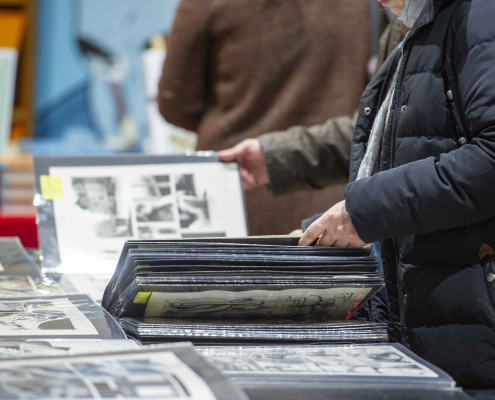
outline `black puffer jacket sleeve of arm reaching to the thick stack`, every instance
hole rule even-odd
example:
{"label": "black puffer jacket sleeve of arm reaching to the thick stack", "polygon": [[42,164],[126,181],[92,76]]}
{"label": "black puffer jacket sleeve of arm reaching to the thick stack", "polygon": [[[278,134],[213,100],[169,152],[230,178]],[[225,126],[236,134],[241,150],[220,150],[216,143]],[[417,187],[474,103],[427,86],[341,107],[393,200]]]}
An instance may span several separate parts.
{"label": "black puffer jacket sleeve of arm reaching to the thick stack", "polygon": [[346,207],[365,242],[466,226],[495,215],[495,2],[465,4],[457,21],[454,66],[473,139],[439,158],[349,184]]}

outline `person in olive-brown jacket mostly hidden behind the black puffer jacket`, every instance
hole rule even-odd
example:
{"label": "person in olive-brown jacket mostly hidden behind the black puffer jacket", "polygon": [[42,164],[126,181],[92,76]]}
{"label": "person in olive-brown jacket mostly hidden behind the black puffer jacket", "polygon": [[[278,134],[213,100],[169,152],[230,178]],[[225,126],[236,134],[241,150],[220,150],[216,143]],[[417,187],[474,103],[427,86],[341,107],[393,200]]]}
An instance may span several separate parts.
{"label": "person in olive-brown jacket mostly hidden behind the black puffer jacket", "polygon": [[[376,70],[403,38],[403,26],[395,19],[380,38]],[[246,139],[221,151],[220,159],[239,163],[244,190],[269,185],[272,194],[279,195],[327,187],[342,176],[348,177],[358,112],[330,118],[321,125],[294,126]]]}

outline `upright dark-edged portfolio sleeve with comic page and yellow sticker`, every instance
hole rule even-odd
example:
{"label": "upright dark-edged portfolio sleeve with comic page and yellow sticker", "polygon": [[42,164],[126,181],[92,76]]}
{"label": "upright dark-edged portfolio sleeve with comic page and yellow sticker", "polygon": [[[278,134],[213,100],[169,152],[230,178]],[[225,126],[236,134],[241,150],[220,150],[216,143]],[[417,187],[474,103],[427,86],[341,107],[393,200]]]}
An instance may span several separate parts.
{"label": "upright dark-edged portfolio sleeve with comic page and yellow sticker", "polygon": [[35,157],[48,272],[112,274],[130,239],[247,234],[237,164],[215,153]]}

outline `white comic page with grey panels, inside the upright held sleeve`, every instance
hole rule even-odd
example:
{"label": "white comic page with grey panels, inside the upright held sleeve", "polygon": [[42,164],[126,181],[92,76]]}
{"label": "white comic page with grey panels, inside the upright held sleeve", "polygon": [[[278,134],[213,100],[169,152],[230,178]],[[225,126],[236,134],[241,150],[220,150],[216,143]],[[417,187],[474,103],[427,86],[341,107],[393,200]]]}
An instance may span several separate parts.
{"label": "white comic page with grey panels, inside the upright held sleeve", "polygon": [[130,239],[247,234],[236,165],[51,167],[50,175],[62,179],[53,204],[65,272],[112,273]]}

